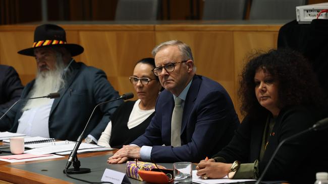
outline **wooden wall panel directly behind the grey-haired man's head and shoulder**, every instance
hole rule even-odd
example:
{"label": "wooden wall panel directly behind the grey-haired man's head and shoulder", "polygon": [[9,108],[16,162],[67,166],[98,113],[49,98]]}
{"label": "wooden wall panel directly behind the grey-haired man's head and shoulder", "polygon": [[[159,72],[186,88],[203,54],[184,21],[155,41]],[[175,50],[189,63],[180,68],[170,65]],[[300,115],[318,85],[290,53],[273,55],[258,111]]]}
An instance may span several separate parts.
{"label": "wooden wall panel directly behind the grey-haired man's head and shoulder", "polygon": [[169,40],[181,40],[193,52],[197,74],[209,77],[225,86],[234,97],[234,55],[232,32],[160,31],[156,32],[156,44]]}

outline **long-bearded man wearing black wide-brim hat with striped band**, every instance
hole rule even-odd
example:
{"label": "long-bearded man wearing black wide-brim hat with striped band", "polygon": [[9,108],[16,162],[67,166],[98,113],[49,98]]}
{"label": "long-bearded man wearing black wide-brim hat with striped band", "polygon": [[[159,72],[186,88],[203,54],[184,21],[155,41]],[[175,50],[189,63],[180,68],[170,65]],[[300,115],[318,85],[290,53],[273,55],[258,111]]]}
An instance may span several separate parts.
{"label": "long-bearded man wearing black wide-brim hat with striped band", "polygon": [[[120,97],[102,70],[72,58],[83,50],[80,45],[68,44],[65,30],[57,25],[36,27],[33,46],[18,51],[35,57],[37,65],[36,78],[25,86],[21,98],[54,92],[60,93],[60,98],[34,99],[17,104],[0,121],[0,131],[76,141],[93,108]],[[97,142],[121,103],[115,101],[96,109],[86,128],[86,141]]]}

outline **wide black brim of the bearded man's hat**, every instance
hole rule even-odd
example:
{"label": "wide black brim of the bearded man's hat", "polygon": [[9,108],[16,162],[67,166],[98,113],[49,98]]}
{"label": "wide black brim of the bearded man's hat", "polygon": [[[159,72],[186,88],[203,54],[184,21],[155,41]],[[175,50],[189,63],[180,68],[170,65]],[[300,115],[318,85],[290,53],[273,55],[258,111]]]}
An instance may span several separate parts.
{"label": "wide black brim of the bearded man's hat", "polygon": [[17,53],[26,55],[26,56],[34,56],[34,49],[45,48],[45,47],[54,47],[54,46],[66,48],[67,50],[70,51],[72,57],[77,56],[77,55],[83,53],[83,51],[84,51],[84,48],[81,45],[71,43],[71,44],[56,44],[56,45],[44,45],[44,46],[39,46],[39,47],[31,47],[31,48],[20,50]]}

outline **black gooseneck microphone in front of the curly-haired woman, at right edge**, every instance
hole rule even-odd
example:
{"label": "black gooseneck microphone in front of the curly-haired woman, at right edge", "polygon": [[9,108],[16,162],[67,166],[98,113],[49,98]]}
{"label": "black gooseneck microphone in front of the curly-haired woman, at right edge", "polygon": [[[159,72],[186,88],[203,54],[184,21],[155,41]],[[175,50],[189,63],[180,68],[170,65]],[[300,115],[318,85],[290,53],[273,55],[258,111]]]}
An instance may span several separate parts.
{"label": "black gooseneck microphone in front of the curly-haired woman, at right edge", "polygon": [[274,152],[274,153],[272,154],[272,156],[270,157],[270,160],[267,162],[266,166],[264,167],[263,172],[261,173],[260,177],[259,177],[259,178],[257,179],[257,181],[255,182],[255,184],[259,184],[259,183],[261,183],[261,181],[262,181],[262,179],[263,179],[263,177],[264,177],[264,175],[265,175],[267,169],[269,168],[269,166],[270,166],[272,160],[274,160],[274,157],[276,156],[276,154],[277,154],[279,148],[280,148],[280,147],[281,147],[286,141],[289,141],[289,140],[291,140],[291,139],[294,139],[295,137],[298,137],[298,136],[300,136],[300,135],[303,135],[303,134],[305,134],[305,133],[307,133],[307,132],[323,130],[323,129],[326,129],[326,128],[328,128],[328,118],[324,118],[324,119],[322,119],[322,120],[320,120],[320,121],[317,121],[312,127],[308,128],[308,129],[306,129],[306,130],[303,130],[302,132],[299,132],[299,133],[297,133],[297,134],[295,134],[295,135],[292,135],[292,136],[290,136],[290,137],[287,137],[286,139],[284,139],[283,141],[281,141],[281,142],[279,143],[279,145],[277,146],[275,152]]}

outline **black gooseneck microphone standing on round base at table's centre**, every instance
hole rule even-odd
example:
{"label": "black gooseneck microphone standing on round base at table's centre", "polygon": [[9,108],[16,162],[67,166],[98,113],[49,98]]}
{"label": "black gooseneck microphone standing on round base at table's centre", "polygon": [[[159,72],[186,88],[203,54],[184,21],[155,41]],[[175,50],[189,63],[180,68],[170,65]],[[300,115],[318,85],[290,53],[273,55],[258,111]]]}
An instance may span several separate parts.
{"label": "black gooseneck microphone standing on round base at table's centre", "polygon": [[[74,169],[68,169],[70,166],[71,166],[71,164],[72,164],[72,162],[73,162],[73,159],[77,159],[76,157],[76,154],[77,154],[77,150],[79,149],[79,147],[80,147],[80,144],[81,144],[81,142],[82,142],[82,138],[83,138],[83,134],[84,134],[84,132],[85,132],[85,129],[87,128],[87,126],[88,126],[88,124],[89,124],[89,121],[90,121],[90,119],[91,119],[91,117],[92,117],[92,115],[93,115],[93,112],[94,112],[94,110],[98,107],[98,106],[100,106],[100,105],[102,105],[102,104],[106,104],[106,103],[110,103],[110,102],[113,102],[113,101],[116,101],[116,100],[128,100],[128,99],[132,99],[133,98],[133,93],[127,93],[127,94],[124,94],[124,95],[122,95],[121,97],[119,97],[119,98],[116,98],[116,99],[113,99],[113,100],[110,100],[110,101],[106,101],[106,102],[102,102],[102,103],[100,103],[100,104],[97,104],[94,108],[93,108],[93,111],[92,111],[92,113],[91,113],[91,115],[90,115],[90,117],[89,117],[89,120],[87,121],[87,123],[86,123],[86,125],[85,125],[85,127],[84,127],[84,129],[83,129],[83,131],[82,131],[82,133],[81,133],[81,135],[77,138],[77,141],[76,141],[76,143],[75,143],[75,146],[74,146],[74,148],[73,148],[73,150],[72,150],[72,152],[71,152],[71,154],[70,154],[70,156],[69,156],[69,158],[68,158],[68,161],[67,161],[67,163],[66,163],[66,167],[65,167],[65,169],[63,170],[63,172],[64,173],[71,173],[71,174],[79,174],[79,173],[88,173],[88,172],[91,172],[91,170],[89,169],[89,168],[81,168],[81,169],[76,169],[76,168],[74,168]],[[73,164],[74,165],[74,164]],[[78,164],[78,165],[80,165],[80,164]]]}

